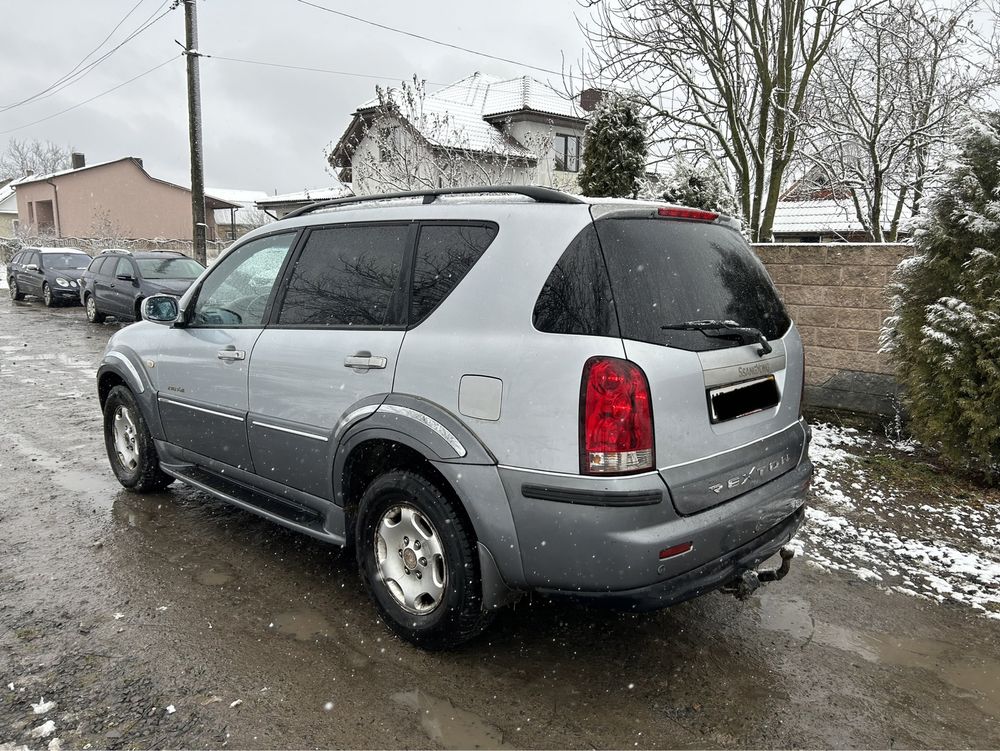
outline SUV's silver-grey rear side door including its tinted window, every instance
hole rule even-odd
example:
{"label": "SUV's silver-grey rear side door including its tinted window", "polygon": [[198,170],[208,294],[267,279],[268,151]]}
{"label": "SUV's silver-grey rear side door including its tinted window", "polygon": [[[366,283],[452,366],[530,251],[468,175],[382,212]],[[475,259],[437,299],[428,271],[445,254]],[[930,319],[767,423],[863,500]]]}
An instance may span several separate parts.
{"label": "SUV's silver-grey rear side door including its tinted window", "polygon": [[317,227],[250,363],[250,449],[264,477],[332,499],[334,429],[387,395],[405,333],[412,223]]}

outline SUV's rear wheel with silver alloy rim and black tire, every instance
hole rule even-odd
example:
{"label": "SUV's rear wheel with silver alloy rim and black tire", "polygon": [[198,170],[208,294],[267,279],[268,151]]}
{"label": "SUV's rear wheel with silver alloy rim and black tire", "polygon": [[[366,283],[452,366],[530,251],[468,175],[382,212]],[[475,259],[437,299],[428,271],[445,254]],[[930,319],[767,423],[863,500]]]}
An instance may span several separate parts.
{"label": "SUV's rear wheel with silver alloy rim and black tire", "polygon": [[449,649],[492,620],[483,612],[472,528],[421,475],[389,472],[368,486],[358,508],[355,550],[379,615],[412,644]]}

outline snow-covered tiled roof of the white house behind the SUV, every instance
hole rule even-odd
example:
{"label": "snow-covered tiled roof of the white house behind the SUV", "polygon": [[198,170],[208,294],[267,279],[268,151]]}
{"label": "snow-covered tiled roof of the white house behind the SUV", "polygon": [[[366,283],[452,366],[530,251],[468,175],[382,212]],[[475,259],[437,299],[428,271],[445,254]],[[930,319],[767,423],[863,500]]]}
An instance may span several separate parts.
{"label": "snow-covered tiled roof of the white house behind the SUV", "polygon": [[[391,91],[400,93],[398,89]],[[374,109],[378,104],[378,99],[369,99],[358,112]],[[575,101],[530,76],[501,79],[482,73],[427,94],[422,105],[423,122],[410,125],[432,146],[526,159],[535,155],[484,118],[530,111],[577,119],[582,124],[586,115]]]}

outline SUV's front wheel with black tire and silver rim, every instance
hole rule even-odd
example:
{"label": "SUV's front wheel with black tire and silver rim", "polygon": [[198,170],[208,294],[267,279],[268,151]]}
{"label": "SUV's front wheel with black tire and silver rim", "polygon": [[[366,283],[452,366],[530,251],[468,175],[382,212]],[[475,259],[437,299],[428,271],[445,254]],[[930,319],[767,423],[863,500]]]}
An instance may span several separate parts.
{"label": "SUV's front wheel with black tire and silver rim", "polygon": [[104,403],[104,446],[115,477],[126,488],[145,493],[162,490],[174,481],[160,469],[142,410],[125,386],[111,389]]}

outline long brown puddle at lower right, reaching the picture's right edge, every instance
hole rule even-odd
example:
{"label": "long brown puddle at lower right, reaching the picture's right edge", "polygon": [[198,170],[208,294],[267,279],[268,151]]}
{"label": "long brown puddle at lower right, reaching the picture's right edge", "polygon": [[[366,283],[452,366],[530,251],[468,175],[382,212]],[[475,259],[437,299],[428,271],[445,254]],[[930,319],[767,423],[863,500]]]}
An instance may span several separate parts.
{"label": "long brown puddle at lower right, reaching the picture's right edge", "polygon": [[965,646],[935,639],[866,634],[817,621],[801,597],[763,594],[760,625],[803,641],[851,652],[867,662],[926,670],[972,701],[985,713],[1000,718],[1000,661],[969,654]]}

